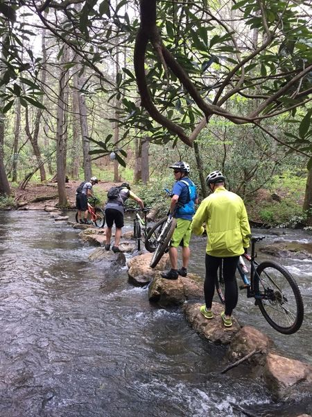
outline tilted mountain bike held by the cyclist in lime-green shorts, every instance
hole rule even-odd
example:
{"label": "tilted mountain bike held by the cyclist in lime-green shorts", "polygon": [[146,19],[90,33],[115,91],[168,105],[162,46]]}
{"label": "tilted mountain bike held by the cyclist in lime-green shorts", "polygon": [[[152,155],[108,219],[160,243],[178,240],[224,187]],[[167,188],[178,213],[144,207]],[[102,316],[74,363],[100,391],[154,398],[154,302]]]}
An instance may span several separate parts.
{"label": "tilted mountain bike held by the cyclist in lime-green shorts", "polygon": [[150,229],[147,239],[151,236],[155,236],[156,238],[154,240],[155,250],[152,259],[150,260],[150,268],[155,268],[160,259],[162,259],[163,254],[168,252],[171,236],[173,235],[176,226],[177,220],[173,218],[172,215],[168,214],[166,218],[159,220],[159,222]]}

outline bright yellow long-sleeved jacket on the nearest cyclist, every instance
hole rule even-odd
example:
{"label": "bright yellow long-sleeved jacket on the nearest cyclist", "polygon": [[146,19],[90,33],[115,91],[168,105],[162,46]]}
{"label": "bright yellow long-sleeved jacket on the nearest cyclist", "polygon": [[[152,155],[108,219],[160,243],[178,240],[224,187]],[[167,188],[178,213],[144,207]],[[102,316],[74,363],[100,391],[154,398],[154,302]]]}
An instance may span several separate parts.
{"label": "bright yellow long-sleeved jacket on the nearest cyclist", "polygon": [[239,195],[218,187],[202,200],[191,223],[196,235],[207,229],[206,252],[211,256],[227,257],[243,254],[249,247],[250,225],[243,200]]}

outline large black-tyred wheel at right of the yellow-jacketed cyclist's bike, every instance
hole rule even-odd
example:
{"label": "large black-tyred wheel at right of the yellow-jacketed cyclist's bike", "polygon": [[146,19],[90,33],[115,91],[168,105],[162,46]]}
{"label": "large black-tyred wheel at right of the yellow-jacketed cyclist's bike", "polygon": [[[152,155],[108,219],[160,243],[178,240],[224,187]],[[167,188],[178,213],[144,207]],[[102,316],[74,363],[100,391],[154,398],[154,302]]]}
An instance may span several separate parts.
{"label": "large black-tyred wheel at right of the yellow-jacketed cyclist's bike", "polygon": [[295,279],[278,263],[260,263],[254,276],[257,304],[267,322],[283,334],[300,329],[304,304]]}

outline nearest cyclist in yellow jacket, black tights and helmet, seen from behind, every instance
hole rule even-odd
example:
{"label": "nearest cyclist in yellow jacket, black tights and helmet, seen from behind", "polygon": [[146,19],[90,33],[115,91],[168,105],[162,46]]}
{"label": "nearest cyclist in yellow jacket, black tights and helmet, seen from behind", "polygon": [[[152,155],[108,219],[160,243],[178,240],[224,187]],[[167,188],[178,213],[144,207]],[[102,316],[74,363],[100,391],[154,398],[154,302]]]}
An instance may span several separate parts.
{"label": "nearest cyclist in yellow jacket, black tights and helmet, seen from behind", "polygon": [[218,268],[223,261],[225,311],[221,317],[225,327],[231,327],[232,311],[238,300],[235,271],[239,256],[249,247],[250,225],[243,200],[225,189],[225,177],[220,171],[211,172],[206,183],[212,194],[202,200],[191,223],[197,235],[205,231],[203,223],[207,230],[205,305],[200,307],[200,312],[205,318],[214,318],[211,304]]}

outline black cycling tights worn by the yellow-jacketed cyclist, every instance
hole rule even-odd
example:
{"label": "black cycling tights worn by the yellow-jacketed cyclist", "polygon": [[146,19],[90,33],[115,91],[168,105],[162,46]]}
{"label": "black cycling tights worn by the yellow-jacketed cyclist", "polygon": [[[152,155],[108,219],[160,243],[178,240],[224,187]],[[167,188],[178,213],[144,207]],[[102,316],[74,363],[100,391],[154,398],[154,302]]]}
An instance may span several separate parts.
{"label": "black cycling tights worn by the yellow-jacketed cyclist", "polygon": [[206,254],[206,278],[204,284],[205,302],[207,309],[211,309],[212,299],[214,298],[215,282],[218,277],[218,268],[223,261],[223,279],[225,285],[225,314],[231,316],[239,298],[235,271],[239,263],[239,256],[229,258],[216,258]]}

